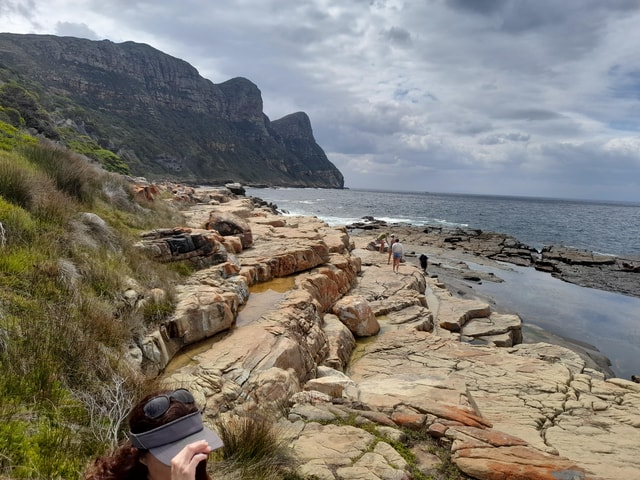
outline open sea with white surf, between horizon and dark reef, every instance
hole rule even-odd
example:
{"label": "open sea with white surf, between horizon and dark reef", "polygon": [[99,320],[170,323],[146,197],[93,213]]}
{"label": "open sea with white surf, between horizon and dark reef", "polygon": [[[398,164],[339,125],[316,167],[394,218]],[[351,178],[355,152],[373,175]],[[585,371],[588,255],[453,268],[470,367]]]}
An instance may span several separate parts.
{"label": "open sea with white surf, between horizon and dark reef", "polygon": [[246,190],[274,203],[285,214],[314,215],[334,226],[370,216],[388,224],[502,233],[538,251],[562,245],[640,258],[640,202],[355,188]]}

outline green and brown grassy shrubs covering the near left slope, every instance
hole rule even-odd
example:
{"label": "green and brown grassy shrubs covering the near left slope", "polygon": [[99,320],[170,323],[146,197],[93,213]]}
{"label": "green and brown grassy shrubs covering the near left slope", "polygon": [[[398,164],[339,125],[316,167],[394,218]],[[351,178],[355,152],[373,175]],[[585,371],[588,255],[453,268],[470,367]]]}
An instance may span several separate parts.
{"label": "green and brown grassy shrubs covering the near left slope", "polygon": [[[0,121],[1,478],[78,478],[121,438],[146,388],[122,357],[171,313],[181,280],[134,243],[181,223],[136,201],[124,177]],[[133,308],[129,288],[167,300]]]}

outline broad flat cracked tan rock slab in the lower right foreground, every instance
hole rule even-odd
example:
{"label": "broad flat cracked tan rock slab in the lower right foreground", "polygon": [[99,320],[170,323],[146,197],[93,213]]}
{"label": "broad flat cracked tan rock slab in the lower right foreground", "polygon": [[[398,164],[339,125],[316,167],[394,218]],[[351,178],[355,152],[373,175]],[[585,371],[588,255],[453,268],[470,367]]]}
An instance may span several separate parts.
{"label": "broad flat cracked tan rock slab in the lower right foreground", "polygon": [[640,385],[592,377],[581,373],[583,366],[577,354],[549,344],[500,349],[395,331],[380,336],[348,372],[369,405],[491,425],[526,443],[526,452],[472,444],[458,450],[454,460],[474,478],[634,478]]}

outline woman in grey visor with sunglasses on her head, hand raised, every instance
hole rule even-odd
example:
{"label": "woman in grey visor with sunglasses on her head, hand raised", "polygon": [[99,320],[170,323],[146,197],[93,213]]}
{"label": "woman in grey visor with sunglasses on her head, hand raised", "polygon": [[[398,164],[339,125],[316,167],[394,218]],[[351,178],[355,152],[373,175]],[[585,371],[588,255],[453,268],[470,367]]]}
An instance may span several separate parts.
{"label": "woman in grey visor with sunglasses on her head, hand raised", "polygon": [[84,480],[208,480],[207,457],[222,447],[188,390],[143,398],[129,415],[129,440],[99,457]]}

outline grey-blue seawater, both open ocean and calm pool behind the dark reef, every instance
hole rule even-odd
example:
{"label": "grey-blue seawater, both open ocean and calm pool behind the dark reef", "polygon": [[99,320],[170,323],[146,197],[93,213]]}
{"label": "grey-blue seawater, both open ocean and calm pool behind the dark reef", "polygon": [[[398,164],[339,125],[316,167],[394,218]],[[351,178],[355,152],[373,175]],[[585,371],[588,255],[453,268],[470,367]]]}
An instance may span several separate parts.
{"label": "grey-blue seawater, both open ocean and calm pool behind the dark reef", "polygon": [[[538,250],[565,245],[640,257],[640,203],[353,189],[246,191],[291,215],[314,215],[330,225],[371,216],[388,223],[504,233]],[[505,282],[474,289],[518,313],[525,325],[593,345],[611,360],[616,376],[640,375],[640,298],[572,285],[533,268],[493,272]]]}

